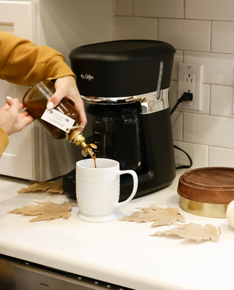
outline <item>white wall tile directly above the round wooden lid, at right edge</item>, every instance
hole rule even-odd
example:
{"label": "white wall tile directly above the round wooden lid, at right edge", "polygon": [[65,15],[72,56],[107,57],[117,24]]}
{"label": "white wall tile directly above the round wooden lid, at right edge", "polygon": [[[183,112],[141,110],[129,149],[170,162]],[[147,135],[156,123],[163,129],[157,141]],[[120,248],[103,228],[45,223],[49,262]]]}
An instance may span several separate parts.
{"label": "white wall tile directly above the round wooden lid, at right edge", "polygon": [[234,167],[234,150],[209,146],[208,166]]}

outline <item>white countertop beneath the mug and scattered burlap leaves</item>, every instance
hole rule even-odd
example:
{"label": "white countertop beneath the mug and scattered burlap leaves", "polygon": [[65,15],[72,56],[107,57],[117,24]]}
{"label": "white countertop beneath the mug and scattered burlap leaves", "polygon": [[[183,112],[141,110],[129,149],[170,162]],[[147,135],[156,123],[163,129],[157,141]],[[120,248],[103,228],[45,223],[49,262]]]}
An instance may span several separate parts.
{"label": "white countertop beneath the mug and scattered burlap leaves", "polygon": [[185,215],[186,223],[210,223],[221,230],[219,243],[196,242],[176,236],[149,236],[174,226],[151,223],[88,223],[78,219],[72,201],[68,220],[29,222],[31,216],[7,213],[34,200],[71,202],[66,195],[21,193],[27,180],[0,176],[0,253],[48,267],[136,290],[233,289],[234,229],[226,219],[204,218],[179,207],[177,184],[136,198],[117,209],[119,218],[136,207],[170,205]]}

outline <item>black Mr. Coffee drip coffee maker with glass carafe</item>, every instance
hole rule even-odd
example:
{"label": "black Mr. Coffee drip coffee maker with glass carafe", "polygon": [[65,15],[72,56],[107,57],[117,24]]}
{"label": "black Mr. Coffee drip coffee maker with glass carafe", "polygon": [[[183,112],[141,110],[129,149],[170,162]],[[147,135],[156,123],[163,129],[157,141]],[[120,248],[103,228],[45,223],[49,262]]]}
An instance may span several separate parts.
{"label": "black Mr. Coffee drip coffee maker with glass carafe", "polygon": [[[169,107],[174,53],[163,41],[119,40],[80,46],[69,55],[87,113],[86,143],[98,146],[97,158],[137,173],[136,196],[170,184],[176,175]],[[75,169],[62,186],[75,198]],[[121,175],[120,200],[132,188],[131,175]]]}

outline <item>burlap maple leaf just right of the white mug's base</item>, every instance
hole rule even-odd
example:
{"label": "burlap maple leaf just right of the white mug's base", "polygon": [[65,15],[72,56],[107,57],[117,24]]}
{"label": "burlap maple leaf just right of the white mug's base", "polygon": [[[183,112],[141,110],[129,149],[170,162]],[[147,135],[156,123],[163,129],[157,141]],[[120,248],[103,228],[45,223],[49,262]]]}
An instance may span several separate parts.
{"label": "burlap maple leaf just right of the white mug's base", "polygon": [[125,215],[120,221],[134,221],[134,222],[153,222],[152,226],[159,226],[163,224],[173,224],[177,220],[185,222],[184,215],[179,214],[178,209],[172,209],[167,206],[166,209],[162,207],[137,207],[141,211],[136,211],[131,215]]}

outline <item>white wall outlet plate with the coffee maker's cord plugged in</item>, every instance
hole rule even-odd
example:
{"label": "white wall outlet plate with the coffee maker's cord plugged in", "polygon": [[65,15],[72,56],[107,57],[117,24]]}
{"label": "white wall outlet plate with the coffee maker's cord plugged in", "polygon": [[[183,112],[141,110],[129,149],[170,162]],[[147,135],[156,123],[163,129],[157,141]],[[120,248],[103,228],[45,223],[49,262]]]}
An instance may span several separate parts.
{"label": "white wall outlet plate with the coffee maker's cord plugged in", "polygon": [[202,110],[203,66],[200,64],[178,65],[178,99],[183,93],[192,93],[192,101],[179,104],[178,108],[187,110]]}

